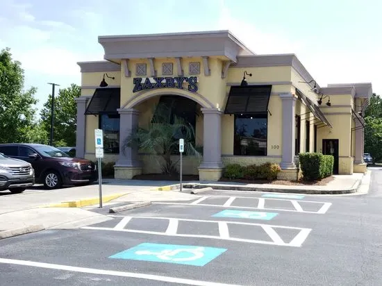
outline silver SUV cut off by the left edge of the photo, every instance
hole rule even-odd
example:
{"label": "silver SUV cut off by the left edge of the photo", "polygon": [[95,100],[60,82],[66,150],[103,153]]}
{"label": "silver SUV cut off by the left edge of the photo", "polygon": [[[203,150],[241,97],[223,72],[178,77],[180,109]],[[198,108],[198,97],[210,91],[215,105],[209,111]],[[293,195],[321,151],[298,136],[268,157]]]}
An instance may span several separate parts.
{"label": "silver SUV cut off by the left edge of the photo", "polygon": [[24,192],[35,183],[35,170],[31,163],[9,158],[0,153],[0,191]]}

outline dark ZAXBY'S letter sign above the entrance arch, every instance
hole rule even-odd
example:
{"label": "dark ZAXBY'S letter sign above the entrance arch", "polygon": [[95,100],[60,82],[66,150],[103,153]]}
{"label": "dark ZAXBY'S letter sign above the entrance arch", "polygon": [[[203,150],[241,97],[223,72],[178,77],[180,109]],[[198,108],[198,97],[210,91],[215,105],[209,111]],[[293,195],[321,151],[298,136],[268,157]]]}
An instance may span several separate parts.
{"label": "dark ZAXBY'S letter sign above the entrance arch", "polygon": [[197,77],[196,76],[175,76],[165,78],[133,78],[134,88],[133,92],[140,92],[141,90],[151,90],[153,88],[178,88],[183,90],[183,83],[188,83],[188,90],[190,92],[197,92]]}

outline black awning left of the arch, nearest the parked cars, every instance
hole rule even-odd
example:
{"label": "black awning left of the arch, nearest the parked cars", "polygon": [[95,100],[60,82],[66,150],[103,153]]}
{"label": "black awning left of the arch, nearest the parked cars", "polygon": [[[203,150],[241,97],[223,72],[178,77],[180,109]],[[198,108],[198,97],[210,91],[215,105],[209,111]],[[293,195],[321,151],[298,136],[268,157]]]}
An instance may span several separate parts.
{"label": "black awning left of the arch, nearest the parked cars", "polygon": [[120,106],[121,89],[97,88],[90,99],[85,115],[98,115],[100,113],[118,113]]}

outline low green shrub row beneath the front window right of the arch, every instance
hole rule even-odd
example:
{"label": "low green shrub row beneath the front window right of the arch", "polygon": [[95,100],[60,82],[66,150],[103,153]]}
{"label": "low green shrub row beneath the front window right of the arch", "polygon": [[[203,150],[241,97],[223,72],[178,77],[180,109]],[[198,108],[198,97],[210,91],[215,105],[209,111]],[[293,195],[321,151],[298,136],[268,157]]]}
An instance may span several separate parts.
{"label": "low green shrub row beneath the front window right of the arch", "polygon": [[226,165],[223,176],[229,179],[244,178],[246,180],[276,180],[281,168],[279,164],[267,162],[263,165],[240,166],[239,164]]}

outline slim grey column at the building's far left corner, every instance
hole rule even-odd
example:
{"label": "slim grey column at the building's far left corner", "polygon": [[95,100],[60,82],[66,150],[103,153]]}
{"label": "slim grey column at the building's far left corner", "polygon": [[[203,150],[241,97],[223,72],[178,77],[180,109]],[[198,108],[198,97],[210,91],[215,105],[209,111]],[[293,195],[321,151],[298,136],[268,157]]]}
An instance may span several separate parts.
{"label": "slim grey column at the building's far left corner", "polygon": [[76,157],[85,157],[85,131],[86,115],[85,110],[89,96],[80,96],[74,99],[77,102],[77,127],[76,127]]}

